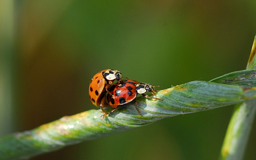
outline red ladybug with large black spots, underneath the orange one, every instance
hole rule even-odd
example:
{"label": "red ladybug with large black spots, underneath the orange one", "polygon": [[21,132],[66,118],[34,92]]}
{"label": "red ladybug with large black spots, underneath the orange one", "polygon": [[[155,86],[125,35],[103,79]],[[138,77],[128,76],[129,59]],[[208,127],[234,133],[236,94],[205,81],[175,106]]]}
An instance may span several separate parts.
{"label": "red ladybug with large black spots, underneath the orange one", "polygon": [[[162,100],[160,98],[149,97],[148,95],[144,95],[144,93],[146,93],[147,91],[152,92],[152,94],[155,95],[156,89],[154,87],[156,86],[152,86],[151,84],[139,83],[138,81],[132,81],[132,80],[127,80],[120,84],[122,85],[121,87],[112,86],[109,89],[109,92],[111,93],[111,95],[115,97],[113,98],[113,96],[111,96],[110,94],[107,95],[108,105],[113,108],[113,110],[110,111],[109,113],[112,113],[118,110],[118,108],[121,105],[129,103],[135,99],[135,107],[138,113],[142,116],[142,114],[137,108],[137,100],[136,100],[137,94],[142,94],[145,98],[154,98],[157,100]],[[103,118],[105,118],[109,113],[105,113],[104,115],[102,115]]]}

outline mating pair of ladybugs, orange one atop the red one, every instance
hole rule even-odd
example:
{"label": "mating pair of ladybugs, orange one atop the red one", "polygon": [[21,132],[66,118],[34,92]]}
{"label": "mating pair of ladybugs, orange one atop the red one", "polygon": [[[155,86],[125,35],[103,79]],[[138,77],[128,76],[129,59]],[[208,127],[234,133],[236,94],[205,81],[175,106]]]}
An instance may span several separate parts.
{"label": "mating pair of ladybugs, orange one atop the red one", "polygon": [[[156,86],[126,79],[127,78],[123,78],[122,73],[112,69],[100,71],[91,79],[89,85],[89,97],[92,104],[101,107],[101,110],[105,113],[102,115],[103,118],[105,118],[107,114],[116,111],[120,105],[129,103],[134,99],[135,107],[138,113],[142,115],[137,108],[137,94],[142,94],[145,98],[162,100],[160,98],[144,95],[147,91],[152,92],[152,94],[155,95],[156,90],[154,87]],[[117,83],[113,83],[114,80],[117,80]],[[113,109],[108,113],[102,108],[107,105]]]}

